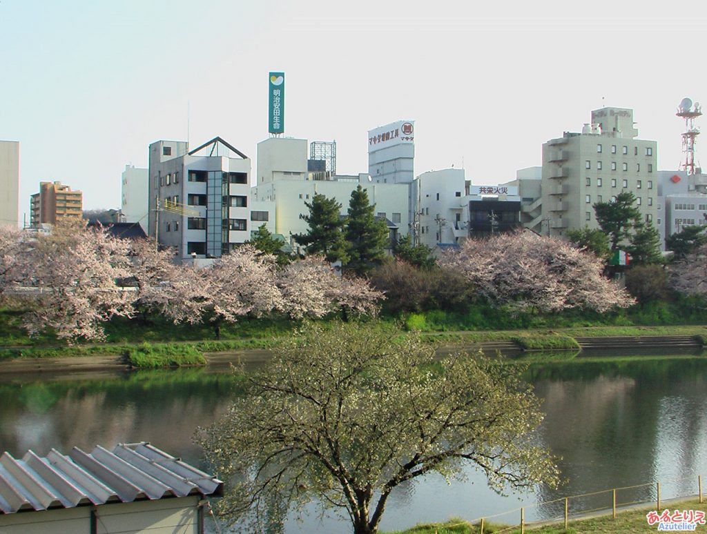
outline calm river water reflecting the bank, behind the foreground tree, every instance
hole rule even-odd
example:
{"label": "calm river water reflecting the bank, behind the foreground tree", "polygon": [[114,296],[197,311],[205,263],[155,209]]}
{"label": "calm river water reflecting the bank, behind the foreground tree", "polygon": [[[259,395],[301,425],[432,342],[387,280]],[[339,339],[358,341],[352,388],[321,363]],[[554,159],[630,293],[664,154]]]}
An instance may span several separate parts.
{"label": "calm river water reflecting the bank, behind the foreground tree", "polygon": [[[539,439],[562,456],[565,483],[556,491],[501,497],[470,470],[450,485],[430,475],[399,487],[387,506],[383,530],[450,516],[476,519],[510,511],[496,521],[515,523],[520,506],[528,521],[560,516],[566,495],[660,481],[663,499],[696,494],[707,475],[707,358],[643,357],[606,361],[577,358],[531,367],[527,379],[547,414]],[[203,465],[192,437],[238,395],[226,369],[5,376],[0,381],[0,451],[21,457],[52,447],[90,451],[96,444],[151,441],[185,461]],[[706,478],[707,481],[707,478]],[[619,504],[655,497],[655,485],[618,492]],[[571,499],[571,509],[611,506],[610,493]],[[286,534],[346,533],[347,521],[329,516],[291,518]]]}

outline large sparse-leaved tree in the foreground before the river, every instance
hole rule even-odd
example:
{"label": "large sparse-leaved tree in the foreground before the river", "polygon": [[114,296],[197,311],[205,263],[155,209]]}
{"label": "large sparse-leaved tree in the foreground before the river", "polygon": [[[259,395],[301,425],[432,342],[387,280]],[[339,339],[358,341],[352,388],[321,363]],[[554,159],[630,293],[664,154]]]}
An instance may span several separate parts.
{"label": "large sparse-leaved tree in the foreground before the river", "polygon": [[315,500],[371,534],[392,490],[426,473],[474,466],[499,492],[556,485],[554,458],[532,436],[543,416],[522,370],[483,355],[438,360],[382,326],[306,325],[199,432],[217,475],[232,481],[218,506],[254,531]]}

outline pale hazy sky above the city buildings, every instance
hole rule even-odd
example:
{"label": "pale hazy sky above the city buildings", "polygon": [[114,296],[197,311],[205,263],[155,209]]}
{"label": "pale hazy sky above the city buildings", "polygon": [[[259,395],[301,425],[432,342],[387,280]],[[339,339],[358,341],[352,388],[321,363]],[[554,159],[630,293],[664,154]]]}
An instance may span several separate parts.
{"label": "pale hazy sky above the city buildings", "polygon": [[604,105],[675,170],[706,22],[697,1],[0,0],[0,139],[21,143],[21,217],[49,180],[119,208],[160,139],[221,136],[255,176],[284,71],[285,135],[336,140],[339,174],[368,172],[368,130],[412,119],[415,174],[507,182]]}

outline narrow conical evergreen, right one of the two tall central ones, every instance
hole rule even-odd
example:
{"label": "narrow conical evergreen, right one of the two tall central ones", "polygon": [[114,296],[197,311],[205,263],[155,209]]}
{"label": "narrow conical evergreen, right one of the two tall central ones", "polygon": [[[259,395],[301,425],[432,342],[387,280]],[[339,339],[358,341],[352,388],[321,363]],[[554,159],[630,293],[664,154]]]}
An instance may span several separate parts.
{"label": "narrow conical evergreen, right one of the two tall central ones", "polygon": [[388,229],[385,220],[375,219],[375,205],[368,203],[368,191],[360,185],[351,191],[346,218],[346,267],[364,275],[385,259]]}

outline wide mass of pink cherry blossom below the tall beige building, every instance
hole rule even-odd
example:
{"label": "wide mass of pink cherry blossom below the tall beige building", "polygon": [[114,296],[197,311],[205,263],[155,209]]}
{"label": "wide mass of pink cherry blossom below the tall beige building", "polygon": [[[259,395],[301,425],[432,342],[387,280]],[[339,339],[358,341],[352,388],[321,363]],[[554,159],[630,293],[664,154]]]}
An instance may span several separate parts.
{"label": "wide mass of pink cherry blossom below the tall beige building", "polygon": [[634,302],[602,276],[603,263],[594,254],[527,231],[468,239],[459,251],[445,254],[440,266],[462,273],[479,297],[518,311],[605,312]]}

